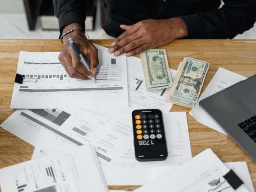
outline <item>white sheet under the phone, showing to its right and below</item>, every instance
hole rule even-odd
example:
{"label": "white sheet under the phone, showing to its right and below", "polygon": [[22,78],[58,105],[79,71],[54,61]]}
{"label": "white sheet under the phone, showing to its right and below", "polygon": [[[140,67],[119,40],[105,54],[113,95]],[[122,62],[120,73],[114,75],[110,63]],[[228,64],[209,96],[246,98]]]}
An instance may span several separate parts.
{"label": "white sheet under the phone, showing to its right and below", "polygon": [[168,113],[163,116],[163,120],[168,150],[167,159],[139,162],[134,157],[134,145],[130,142],[116,163],[104,170],[108,185],[143,185],[155,178],[152,167],[177,166],[192,157],[186,112]]}

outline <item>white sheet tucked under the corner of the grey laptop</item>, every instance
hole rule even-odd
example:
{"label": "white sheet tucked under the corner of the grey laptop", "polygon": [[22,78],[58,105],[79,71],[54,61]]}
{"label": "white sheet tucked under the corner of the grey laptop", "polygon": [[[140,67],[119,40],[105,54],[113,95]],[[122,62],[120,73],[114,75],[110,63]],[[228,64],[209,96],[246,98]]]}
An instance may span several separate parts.
{"label": "white sheet tucked under the corner of the grey laptop", "polygon": [[246,79],[246,77],[220,67],[204,90],[204,93],[199,97],[198,102],[189,113],[195,120],[203,125],[226,134],[225,131],[200,107],[199,102],[239,81],[243,81],[244,79]]}

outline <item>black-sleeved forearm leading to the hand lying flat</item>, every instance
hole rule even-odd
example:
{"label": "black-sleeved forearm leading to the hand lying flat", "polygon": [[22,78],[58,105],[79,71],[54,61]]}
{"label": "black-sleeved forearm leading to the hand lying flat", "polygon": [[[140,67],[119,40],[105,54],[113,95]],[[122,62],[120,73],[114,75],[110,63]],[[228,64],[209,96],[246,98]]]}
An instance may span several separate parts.
{"label": "black-sleeved forearm leading to the hand lying flat", "polygon": [[255,0],[226,0],[221,9],[183,15],[187,38],[222,39],[234,38],[250,29],[256,21]]}

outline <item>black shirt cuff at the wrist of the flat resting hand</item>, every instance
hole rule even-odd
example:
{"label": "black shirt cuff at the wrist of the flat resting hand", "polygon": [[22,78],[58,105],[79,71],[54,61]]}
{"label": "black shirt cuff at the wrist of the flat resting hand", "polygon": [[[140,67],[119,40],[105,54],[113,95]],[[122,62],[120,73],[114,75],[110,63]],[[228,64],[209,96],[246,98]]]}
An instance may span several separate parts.
{"label": "black shirt cuff at the wrist of the flat resting hand", "polygon": [[203,30],[200,23],[200,18],[197,14],[194,15],[185,15],[180,16],[180,18],[186,24],[188,35],[186,38],[188,39],[202,39],[203,38]]}

